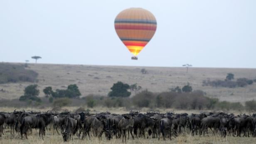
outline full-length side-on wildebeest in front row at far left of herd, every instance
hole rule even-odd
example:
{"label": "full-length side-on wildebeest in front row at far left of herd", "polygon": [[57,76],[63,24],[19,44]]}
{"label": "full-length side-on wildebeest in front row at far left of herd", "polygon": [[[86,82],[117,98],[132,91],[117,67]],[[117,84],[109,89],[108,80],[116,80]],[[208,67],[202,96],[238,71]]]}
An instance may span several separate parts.
{"label": "full-length side-on wildebeest in front row at far left of herd", "polygon": [[[32,116],[26,116],[23,118],[22,123],[20,125],[20,134],[21,138],[23,137],[23,133],[27,138],[27,130],[29,128],[38,128],[39,129],[39,137],[42,134],[42,139],[44,139],[44,132],[45,127],[51,122],[52,120],[52,113],[44,113]],[[38,138],[39,138],[38,137]]]}

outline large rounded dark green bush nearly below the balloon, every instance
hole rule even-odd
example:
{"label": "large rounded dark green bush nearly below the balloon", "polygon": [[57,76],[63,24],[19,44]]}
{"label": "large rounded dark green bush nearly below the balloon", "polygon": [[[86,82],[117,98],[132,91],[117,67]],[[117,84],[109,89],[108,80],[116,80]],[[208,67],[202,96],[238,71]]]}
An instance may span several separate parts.
{"label": "large rounded dark green bush nearly below the balloon", "polygon": [[111,87],[111,92],[108,93],[108,96],[110,97],[129,97],[130,92],[127,90],[130,88],[128,84],[124,84],[121,81],[118,81],[117,83],[114,83]]}

